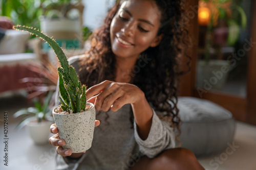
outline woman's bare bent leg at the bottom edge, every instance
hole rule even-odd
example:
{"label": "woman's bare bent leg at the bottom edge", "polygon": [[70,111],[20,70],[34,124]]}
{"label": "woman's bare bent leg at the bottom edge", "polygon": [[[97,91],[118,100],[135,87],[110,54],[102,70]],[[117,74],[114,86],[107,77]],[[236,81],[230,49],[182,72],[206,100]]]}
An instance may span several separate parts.
{"label": "woman's bare bent leg at the bottom edge", "polygon": [[163,151],[154,159],[146,156],[140,158],[130,170],[201,170],[204,169],[197,161],[193,152],[188,149],[175,148]]}

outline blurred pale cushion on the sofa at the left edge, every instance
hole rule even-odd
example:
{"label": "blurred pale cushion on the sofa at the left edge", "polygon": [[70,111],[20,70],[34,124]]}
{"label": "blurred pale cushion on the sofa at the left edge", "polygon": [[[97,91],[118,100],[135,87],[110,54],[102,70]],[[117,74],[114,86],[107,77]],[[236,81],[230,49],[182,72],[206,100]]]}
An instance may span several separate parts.
{"label": "blurred pale cushion on the sofa at the left edge", "polygon": [[29,36],[28,32],[6,30],[5,36],[0,42],[0,54],[25,53]]}

